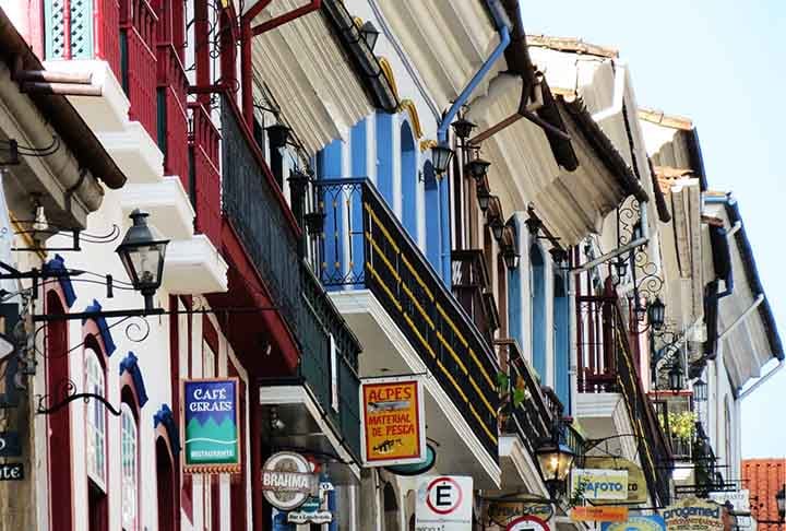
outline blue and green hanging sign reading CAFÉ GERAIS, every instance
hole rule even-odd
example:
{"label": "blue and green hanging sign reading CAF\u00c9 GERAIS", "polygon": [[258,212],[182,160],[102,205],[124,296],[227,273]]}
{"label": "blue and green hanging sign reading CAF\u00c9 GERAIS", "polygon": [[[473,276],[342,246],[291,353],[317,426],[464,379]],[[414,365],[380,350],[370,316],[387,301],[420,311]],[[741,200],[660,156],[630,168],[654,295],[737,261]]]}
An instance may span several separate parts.
{"label": "blue and green hanging sign reading CAF\u00c9 GERAIS", "polygon": [[238,379],[183,380],[183,471],[240,472]]}

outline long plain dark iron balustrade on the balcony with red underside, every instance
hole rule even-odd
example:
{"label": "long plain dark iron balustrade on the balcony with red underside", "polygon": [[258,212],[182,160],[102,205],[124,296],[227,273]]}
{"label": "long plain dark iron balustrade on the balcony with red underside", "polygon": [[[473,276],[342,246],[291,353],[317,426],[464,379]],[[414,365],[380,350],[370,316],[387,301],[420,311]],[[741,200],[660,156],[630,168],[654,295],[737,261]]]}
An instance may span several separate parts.
{"label": "long plain dark iron balustrade on the balcony with red underside", "polygon": [[359,459],[360,345],[302,260],[298,235],[286,219],[278,191],[266,178],[264,161],[239,120],[237,107],[224,98],[221,192],[225,220],[237,232],[273,303],[291,327],[300,350],[298,376],[342,442]]}

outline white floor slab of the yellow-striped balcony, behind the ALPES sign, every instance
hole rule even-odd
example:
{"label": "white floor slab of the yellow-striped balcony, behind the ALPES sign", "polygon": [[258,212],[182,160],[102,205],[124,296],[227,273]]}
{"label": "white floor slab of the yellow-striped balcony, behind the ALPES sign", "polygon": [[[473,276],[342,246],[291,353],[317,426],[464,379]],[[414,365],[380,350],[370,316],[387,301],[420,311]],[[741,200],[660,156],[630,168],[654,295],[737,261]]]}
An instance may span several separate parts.
{"label": "white floor slab of the yellow-striped balcony, behind the ALPES sign", "polygon": [[[330,293],[364,345],[360,376],[426,374],[428,368],[369,290]],[[499,464],[485,450],[433,375],[425,379],[428,437],[439,442],[433,473],[472,475],[476,488],[499,488]]]}

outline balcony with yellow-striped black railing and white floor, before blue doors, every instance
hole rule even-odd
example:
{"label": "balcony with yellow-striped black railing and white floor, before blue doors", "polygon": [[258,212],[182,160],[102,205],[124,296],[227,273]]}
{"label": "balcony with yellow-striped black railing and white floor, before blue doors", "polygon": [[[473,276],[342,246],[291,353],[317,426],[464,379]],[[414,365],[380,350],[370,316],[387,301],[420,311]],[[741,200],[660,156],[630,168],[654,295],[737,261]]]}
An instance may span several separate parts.
{"label": "balcony with yellow-striped black railing and white floor, before blue doors", "polygon": [[429,437],[451,441],[442,473],[499,484],[498,364],[490,344],[368,180],[322,180],[320,278],[370,355],[362,376],[426,373]]}

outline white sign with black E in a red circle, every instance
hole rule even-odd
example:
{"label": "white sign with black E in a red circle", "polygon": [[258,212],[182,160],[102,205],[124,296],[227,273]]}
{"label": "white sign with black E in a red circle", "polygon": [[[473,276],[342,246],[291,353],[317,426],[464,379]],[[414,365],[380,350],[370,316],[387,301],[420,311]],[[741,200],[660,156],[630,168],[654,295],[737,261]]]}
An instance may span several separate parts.
{"label": "white sign with black E in a red circle", "polygon": [[472,531],[473,479],[463,475],[420,480],[415,505],[415,531]]}

